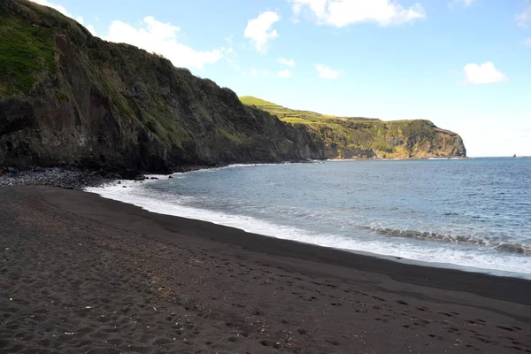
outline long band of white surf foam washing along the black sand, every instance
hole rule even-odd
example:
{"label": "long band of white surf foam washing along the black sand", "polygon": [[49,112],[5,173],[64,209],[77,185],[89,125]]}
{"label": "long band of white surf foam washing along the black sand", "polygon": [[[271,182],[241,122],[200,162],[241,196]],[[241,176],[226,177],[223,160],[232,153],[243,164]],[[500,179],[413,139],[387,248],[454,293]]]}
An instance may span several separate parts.
{"label": "long band of white surf foam washing along the black sand", "polygon": [[[151,175],[151,177],[158,177],[158,179],[168,178],[168,176],[160,175]],[[388,242],[382,241],[377,236],[373,239],[367,237],[358,239],[343,235],[313,234],[311,231],[276,225],[250,216],[231,215],[183,205],[183,203],[186,203],[187,198],[193,198],[190,196],[180,196],[179,198],[175,196],[168,196],[167,198],[154,197],[150,194],[149,189],[143,188],[145,184],[153,181],[155,180],[146,180],[144,182],[120,181],[121,184],[109,185],[103,188],[89,188],[86,191],[96,193],[105,198],[134,204],[149,212],[209,221],[259,235],[312,243],[341,250],[363,251],[376,255],[412,259],[428,262],[434,266],[458,267],[460,269],[465,267],[463,268],[465,270],[531,279],[531,258],[515,258],[512,255],[501,254],[500,252],[473,250],[472,248],[462,250],[438,243],[420,243],[410,240]],[[466,269],[466,267],[471,269]]]}

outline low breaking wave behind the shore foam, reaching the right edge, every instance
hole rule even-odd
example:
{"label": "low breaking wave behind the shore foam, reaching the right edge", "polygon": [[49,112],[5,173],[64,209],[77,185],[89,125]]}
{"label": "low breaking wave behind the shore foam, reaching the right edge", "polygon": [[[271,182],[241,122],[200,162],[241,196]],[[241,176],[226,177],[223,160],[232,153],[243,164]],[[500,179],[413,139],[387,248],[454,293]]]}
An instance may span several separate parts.
{"label": "low breaking wave behind the shore foam, reaching the right edge", "polygon": [[473,244],[478,246],[490,247],[504,252],[519,253],[522,255],[531,255],[531,244],[526,243],[511,243],[499,242],[492,240],[485,240],[476,236],[463,235],[442,235],[427,231],[414,230],[398,230],[386,227],[362,227],[366,230],[375,232],[380,235],[388,235],[394,237],[414,238],[417,240],[437,241],[460,244]]}

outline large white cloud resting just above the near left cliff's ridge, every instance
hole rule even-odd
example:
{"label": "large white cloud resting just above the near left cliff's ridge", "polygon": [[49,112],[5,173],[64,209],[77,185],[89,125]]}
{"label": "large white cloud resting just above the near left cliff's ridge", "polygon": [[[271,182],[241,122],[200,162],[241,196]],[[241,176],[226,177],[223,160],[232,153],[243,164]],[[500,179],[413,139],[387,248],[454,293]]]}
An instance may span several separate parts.
{"label": "large white cloud resting just above the near left cliff's ridge", "polygon": [[202,70],[205,64],[212,64],[223,57],[225,49],[197,51],[177,41],[181,28],[159,22],[148,16],[139,28],[131,27],[119,20],[112,21],[109,34],[104,37],[110,42],[133,44],[152,53],[163,55],[175,66]]}

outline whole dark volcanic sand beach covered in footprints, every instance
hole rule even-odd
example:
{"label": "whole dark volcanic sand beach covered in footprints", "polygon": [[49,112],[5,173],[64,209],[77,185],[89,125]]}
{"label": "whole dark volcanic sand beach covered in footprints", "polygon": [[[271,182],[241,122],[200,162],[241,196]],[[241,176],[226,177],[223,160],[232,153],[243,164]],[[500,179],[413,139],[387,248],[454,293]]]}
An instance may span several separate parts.
{"label": "whole dark volcanic sand beach covered in footprints", "polygon": [[0,189],[0,352],[531,353],[531,281]]}

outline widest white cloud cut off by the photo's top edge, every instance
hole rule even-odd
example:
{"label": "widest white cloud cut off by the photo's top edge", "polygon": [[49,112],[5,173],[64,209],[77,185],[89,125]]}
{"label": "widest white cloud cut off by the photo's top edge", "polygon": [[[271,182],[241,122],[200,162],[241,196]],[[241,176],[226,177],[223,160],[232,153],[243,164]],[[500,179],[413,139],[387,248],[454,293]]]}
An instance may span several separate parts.
{"label": "widest white cloud cut off by the photo's top edge", "polygon": [[296,16],[309,11],[319,24],[344,27],[360,22],[376,22],[381,26],[399,25],[425,19],[421,4],[408,8],[393,0],[290,0]]}

